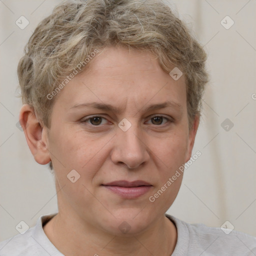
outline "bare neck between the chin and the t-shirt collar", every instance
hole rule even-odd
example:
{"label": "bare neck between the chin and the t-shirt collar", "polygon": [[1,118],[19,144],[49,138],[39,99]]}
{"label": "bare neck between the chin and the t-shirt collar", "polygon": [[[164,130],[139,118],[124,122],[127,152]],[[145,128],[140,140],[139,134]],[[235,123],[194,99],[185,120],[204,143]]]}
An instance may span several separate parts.
{"label": "bare neck between the chin and the t-shirt collar", "polygon": [[53,245],[67,256],[170,256],[177,240],[175,225],[164,215],[143,232],[117,236],[81,223],[75,214],[65,216],[59,211],[43,230]]}

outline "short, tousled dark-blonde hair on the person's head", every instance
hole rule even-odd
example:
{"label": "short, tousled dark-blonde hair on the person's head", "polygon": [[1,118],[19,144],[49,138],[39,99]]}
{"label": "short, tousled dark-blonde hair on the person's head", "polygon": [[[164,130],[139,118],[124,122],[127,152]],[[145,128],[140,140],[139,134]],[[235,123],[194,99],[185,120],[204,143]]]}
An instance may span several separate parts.
{"label": "short, tousled dark-blonde hair on the person's head", "polygon": [[[185,76],[189,129],[200,115],[207,82],[206,54],[185,24],[163,0],[67,0],[36,27],[17,73],[22,102],[50,127],[54,98],[47,95],[95,49],[121,44],[150,50],[164,71]],[[89,63],[88,63],[89,64]]]}

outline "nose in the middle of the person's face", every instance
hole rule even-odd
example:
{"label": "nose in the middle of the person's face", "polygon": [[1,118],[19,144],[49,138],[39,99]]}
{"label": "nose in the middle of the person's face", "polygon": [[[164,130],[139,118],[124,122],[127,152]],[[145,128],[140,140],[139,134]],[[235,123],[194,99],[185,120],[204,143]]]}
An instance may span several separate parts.
{"label": "nose in the middle of the person's face", "polygon": [[114,140],[111,160],[115,164],[126,165],[128,168],[137,168],[149,160],[146,141],[137,125],[132,124],[126,131],[118,127]]}

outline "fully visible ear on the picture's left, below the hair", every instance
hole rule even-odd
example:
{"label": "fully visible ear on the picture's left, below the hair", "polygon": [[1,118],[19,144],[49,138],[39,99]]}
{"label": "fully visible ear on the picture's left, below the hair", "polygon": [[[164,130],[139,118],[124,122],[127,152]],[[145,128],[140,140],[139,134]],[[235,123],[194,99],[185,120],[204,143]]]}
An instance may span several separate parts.
{"label": "fully visible ear on the picture's left, below the hair", "polygon": [[41,126],[33,107],[28,104],[22,105],[19,112],[19,123],[35,161],[40,164],[47,164],[50,161],[50,154],[47,149],[47,127]]}

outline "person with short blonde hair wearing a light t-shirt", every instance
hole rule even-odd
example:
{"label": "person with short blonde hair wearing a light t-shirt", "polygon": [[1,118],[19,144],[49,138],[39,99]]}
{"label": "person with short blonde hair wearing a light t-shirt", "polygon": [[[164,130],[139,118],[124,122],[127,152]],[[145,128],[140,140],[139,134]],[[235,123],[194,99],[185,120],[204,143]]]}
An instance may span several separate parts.
{"label": "person with short blonde hair wearing a light t-shirt", "polygon": [[56,6],[18,77],[20,123],[34,159],[54,169],[58,213],[1,242],[0,255],[255,251],[252,236],[165,214],[192,156],[205,59],[160,0]]}

